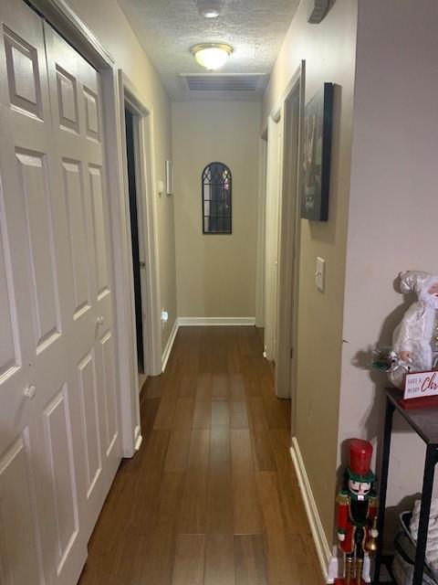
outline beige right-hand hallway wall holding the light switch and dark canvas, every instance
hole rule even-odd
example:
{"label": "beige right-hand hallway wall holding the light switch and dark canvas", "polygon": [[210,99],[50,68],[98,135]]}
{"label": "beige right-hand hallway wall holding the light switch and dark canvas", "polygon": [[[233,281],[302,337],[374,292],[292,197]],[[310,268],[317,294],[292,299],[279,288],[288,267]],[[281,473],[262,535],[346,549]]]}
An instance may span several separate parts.
{"label": "beige right-hand hallway wall holding the light switch and dark canvas", "polygon": [[[287,82],[306,60],[306,101],[332,81],[333,150],[327,223],[301,222],[297,342],[297,441],[319,516],[332,542],[336,489],[342,307],[345,274],[357,0],[338,0],[318,26],[298,7],[276,60],[262,126]],[[326,290],[315,286],[317,256],[326,260]]]}

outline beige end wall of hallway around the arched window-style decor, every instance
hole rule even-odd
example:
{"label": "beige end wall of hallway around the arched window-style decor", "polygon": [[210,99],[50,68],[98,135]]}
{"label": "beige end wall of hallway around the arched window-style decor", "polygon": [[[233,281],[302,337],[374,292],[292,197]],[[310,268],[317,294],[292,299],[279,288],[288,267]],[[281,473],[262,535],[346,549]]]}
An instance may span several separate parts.
{"label": "beige end wall of hallway around the arched window-style decor", "polygon": [[[254,317],[260,105],[172,103],[178,315]],[[233,234],[203,235],[201,174],[233,176]]]}

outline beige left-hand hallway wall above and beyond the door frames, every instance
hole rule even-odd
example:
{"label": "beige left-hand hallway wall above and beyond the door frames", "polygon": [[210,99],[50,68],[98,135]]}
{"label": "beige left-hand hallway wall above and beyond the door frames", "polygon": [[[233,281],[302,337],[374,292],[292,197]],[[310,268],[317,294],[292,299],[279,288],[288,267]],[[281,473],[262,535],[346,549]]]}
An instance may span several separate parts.
{"label": "beige left-hand hallway wall above and beyond the door frames", "polygon": [[[123,69],[141,99],[153,113],[154,159],[156,180],[164,180],[164,161],[172,158],[171,104],[162,83],[141,48],[116,0],[69,0],[69,4],[87,23]],[[156,187],[156,186],[155,186]],[[169,323],[163,332],[165,346],[176,316],[175,243],[172,197],[158,197],[157,222],[160,262],[161,304],[169,311]]]}

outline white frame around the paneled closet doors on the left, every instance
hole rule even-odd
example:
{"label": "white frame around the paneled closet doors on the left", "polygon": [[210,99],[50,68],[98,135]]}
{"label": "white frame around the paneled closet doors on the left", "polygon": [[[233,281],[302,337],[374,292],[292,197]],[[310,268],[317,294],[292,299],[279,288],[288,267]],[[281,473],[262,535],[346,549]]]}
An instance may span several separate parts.
{"label": "white frame around the paneled closet doors on the left", "polygon": [[121,445],[123,457],[131,457],[141,444],[140,407],[135,329],[130,270],[129,206],[123,181],[121,150],[120,93],[118,71],[110,53],[65,0],[29,0],[36,10],[68,40],[72,47],[95,67],[101,76],[106,127],[108,191],[110,196],[113,265],[116,373],[119,380]]}

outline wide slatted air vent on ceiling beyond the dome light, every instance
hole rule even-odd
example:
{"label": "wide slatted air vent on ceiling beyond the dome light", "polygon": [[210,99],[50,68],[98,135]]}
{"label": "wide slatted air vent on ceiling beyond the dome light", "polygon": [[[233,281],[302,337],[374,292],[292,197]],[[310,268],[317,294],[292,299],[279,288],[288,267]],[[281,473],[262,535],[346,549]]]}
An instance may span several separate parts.
{"label": "wide slatted air vent on ceiling beyond the dome light", "polygon": [[203,75],[181,74],[190,91],[256,91],[261,89],[264,74]]}

